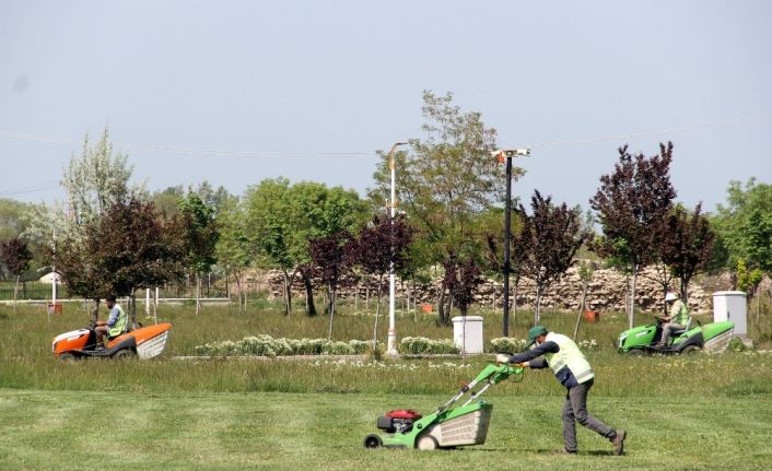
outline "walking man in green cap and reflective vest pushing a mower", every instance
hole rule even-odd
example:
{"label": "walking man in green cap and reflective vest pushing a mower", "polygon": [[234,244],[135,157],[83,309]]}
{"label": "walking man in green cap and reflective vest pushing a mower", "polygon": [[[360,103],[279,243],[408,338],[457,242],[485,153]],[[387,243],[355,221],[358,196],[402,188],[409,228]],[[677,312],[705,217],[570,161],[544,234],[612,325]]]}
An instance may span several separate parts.
{"label": "walking man in green cap and reflective vest pushing a mower", "polygon": [[546,368],[549,366],[561,385],[565,386],[565,403],[563,404],[563,440],[564,452],[575,455],[576,422],[608,438],[613,445],[613,454],[624,452],[627,432],[611,428],[587,412],[587,393],[595,381],[595,373],[570,338],[555,332],[549,332],[542,326],[528,330],[528,345],[533,349],[517,355],[500,353],[496,363],[516,363],[522,367]]}

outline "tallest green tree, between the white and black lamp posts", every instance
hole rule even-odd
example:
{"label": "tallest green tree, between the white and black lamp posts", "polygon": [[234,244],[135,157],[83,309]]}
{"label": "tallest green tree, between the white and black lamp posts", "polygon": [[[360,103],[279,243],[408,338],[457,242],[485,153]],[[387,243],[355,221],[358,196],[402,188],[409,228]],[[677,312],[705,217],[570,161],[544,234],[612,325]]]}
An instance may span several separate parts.
{"label": "tallest green tree, between the white and black lamp posts", "polygon": [[[475,225],[476,216],[502,201],[504,168],[491,157],[494,129],[487,128],[479,113],[463,113],[453,95],[423,93],[424,139],[411,139],[409,151],[394,154],[400,209],[418,229],[417,238],[431,263],[454,258],[481,257],[486,237]],[[382,153],[370,191],[374,205],[389,201],[389,155]],[[515,168],[514,175],[522,170]],[[440,295],[440,321],[449,325],[447,286]]]}

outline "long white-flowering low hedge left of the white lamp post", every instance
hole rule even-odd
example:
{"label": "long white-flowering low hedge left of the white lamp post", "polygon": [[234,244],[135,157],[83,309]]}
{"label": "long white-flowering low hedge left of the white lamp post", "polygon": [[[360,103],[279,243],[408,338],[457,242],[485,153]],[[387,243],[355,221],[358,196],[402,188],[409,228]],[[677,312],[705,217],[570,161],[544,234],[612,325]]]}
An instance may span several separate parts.
{"label": "long white-flowering low hedge left of the white lamp post", "polygon": [[361,355],[371,345],[372,342],[363,340],[274,339],[264,333],[238,342],[226,340],[197,345],[195,352],[204,356]]}

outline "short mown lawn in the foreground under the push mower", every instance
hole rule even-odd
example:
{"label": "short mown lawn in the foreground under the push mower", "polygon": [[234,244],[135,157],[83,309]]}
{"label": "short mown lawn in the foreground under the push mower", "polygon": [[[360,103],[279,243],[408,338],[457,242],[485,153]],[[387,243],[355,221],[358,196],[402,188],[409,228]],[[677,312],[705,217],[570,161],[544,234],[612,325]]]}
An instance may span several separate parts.
{"label": "short mown lawn in the foreground under the push mower", "polygon": [[[527,389],[528,385],[523,384]],[[456,450],[364,449],[395,407],[431,411],[435,396],[2,390],[2,469],[769,469],[772,402],[759,398],[590,398],[625,427],[627,455],[580,431],[562,446],[559,397],[498,397],[484,445]]]}

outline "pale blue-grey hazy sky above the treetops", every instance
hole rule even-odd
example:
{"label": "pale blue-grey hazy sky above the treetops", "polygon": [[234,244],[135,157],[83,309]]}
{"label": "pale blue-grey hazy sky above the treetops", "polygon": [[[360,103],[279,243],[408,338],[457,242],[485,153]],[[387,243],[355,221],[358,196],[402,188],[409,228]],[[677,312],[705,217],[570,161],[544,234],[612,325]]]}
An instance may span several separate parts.
{"label": "pale blue-grey hazy sky above the treetops", "polygon": [[0,0],[0,198],[65,201],[105,128],[151,191],[284,176],[364,195],[375,151],[425,138],[428,90],[531,149],[519,198],[587,209],[619,146],[672,141],[677,200],[714,211],[730,180],[772,182],[771,17],[764,0]]}

